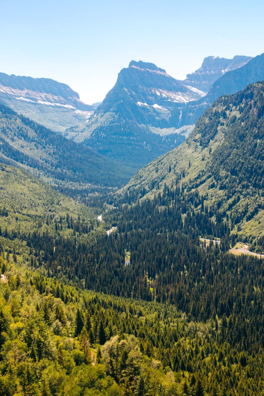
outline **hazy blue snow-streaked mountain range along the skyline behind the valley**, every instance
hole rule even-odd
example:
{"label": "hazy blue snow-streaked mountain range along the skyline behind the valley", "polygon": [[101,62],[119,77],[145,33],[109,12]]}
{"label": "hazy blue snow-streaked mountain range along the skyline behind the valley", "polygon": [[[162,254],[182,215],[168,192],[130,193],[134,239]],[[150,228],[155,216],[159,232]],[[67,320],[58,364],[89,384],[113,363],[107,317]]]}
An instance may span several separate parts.
{"label": "hazy blue snow-streaked mountain range along the skyline behind the valley", "polygon": [[[215,97],[217,88],[209,86],[229,70],[240,71],[251,59],[207,57],[184,81],[153,63],[131,61],[104,101],[92,106],[66,84],[0,73],[0,101],[49,129],[64,131],[68,139],[112,158],[133,175],[182,143]],[[230,86],[225,81],[222,91]]]}

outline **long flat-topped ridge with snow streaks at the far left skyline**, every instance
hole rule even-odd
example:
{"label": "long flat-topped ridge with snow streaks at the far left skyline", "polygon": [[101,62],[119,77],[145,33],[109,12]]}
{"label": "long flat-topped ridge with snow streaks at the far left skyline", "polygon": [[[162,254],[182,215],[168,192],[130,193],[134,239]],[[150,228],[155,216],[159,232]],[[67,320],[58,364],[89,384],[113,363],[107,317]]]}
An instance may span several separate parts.
{"label": "long flat-topped ridge with snow streaks at the far left skyline", "polygon": [[58,132],[84,123],[96,109],[66,84],[5,73],[0,73],[0,102]]}

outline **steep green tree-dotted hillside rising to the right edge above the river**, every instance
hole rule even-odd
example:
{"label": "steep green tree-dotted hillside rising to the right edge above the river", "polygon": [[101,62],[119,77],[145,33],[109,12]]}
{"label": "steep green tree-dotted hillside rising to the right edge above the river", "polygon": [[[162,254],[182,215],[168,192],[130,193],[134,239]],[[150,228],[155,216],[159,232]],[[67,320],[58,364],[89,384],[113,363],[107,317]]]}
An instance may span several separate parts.
{"label": "steep green tree-dotted hillside rising to the right edge above the river", "polygon": [[263,122],[263,83],[220,97],[186,142],[131,179],[121,201],[153,198],[165,185],[179,187],[196,194],[194,208],[217,223],[226,221],[231,233],[257,244],[264,215]]}

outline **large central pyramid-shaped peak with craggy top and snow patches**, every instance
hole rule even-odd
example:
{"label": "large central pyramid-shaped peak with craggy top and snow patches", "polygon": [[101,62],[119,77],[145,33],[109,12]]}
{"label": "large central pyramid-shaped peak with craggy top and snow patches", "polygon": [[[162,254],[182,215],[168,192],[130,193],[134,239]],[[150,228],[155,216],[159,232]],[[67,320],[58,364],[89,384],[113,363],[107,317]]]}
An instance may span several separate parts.
{"label": "large central pyramid-shaped peak with craggy top and snow patches", "polygon": [[84,128],[67,133],[135,171],[185,139],[168,128],[171,110],[203,96],[154,63],[131,61]]}

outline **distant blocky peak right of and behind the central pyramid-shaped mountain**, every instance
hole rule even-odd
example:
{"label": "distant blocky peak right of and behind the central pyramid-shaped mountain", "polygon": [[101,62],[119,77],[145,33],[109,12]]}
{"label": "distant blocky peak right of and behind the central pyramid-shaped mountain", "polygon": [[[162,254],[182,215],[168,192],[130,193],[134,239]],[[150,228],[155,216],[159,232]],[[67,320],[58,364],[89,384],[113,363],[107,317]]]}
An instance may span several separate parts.
{"label": "distant blocky peak right of and behind the central pyramid-shaped mountain", "polygon": [[253,59],[251,56],[236,55],[233,59],[208,56],[199,69],[187,74],[184,82],[201,91],[208,92],[212,84],[230,70],[238,69]]}

